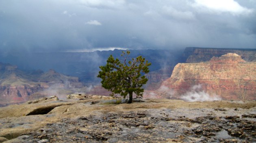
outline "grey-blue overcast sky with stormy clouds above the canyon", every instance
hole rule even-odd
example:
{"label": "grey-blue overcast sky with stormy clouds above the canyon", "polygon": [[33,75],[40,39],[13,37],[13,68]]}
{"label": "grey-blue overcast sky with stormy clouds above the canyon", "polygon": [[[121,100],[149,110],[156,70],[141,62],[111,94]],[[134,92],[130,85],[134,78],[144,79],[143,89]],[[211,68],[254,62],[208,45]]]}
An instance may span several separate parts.
{"label": "grey-blue overcast sky with stormy clouds above the canyon", "polygon": [[256,48],[256,0],[0,0],[0,50]]}

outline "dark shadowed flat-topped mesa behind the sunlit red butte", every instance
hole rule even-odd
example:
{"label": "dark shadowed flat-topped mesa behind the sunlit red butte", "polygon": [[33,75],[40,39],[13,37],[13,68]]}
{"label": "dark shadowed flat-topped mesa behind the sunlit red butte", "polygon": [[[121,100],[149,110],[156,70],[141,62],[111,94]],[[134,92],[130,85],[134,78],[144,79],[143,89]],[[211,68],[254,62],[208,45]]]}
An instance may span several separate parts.
{"label": "dark shadowed flat-topped mesa behind the sunlit red butte", "polygon": [[187,47],[183,52],[186,63],[199,63],[209,61],[212,57],[220,57],[227,53],[236,53],[245,61],[256,61],[256,49],[232,48],[198,48]]}

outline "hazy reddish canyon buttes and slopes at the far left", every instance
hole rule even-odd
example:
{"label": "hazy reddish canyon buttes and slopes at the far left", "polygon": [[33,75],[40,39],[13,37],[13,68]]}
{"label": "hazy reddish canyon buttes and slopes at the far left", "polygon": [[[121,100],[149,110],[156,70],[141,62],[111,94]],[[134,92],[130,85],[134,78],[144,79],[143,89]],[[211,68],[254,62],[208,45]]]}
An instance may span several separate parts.
{"label": "hazy reddish canyon buttes and slopes at the far left", "polygon": [[[83,85],[77,77],[59,74],[53,69],[43,71],[22,71],[16,65],[0,63],[0,104],[20,103],[50,87],[81,88]],[[47,96],[47,95],[44,95]]]}

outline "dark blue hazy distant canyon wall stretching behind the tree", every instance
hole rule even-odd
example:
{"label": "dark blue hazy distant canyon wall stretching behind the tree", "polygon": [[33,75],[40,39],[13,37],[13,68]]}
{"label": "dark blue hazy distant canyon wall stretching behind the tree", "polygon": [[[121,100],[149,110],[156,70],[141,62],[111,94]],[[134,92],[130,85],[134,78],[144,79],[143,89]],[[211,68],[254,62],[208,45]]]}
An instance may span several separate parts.
{"label": "dark blue hazy distant canyon wall stretching behind the tree", "polygon": [[[99,66],[106,64],[106,60],[110,55],[120,59],[122,51],[126,50],[97,50],[94,52],[80,53],[0,53],[0,62],[17,65],[23,70],[42,69],[43,71],[47,71],[48,69],[54,69],[61,74],[78,77],[85,85],[90,86],[100,83],[100,79],[97,78],[100,70]],[[136,58],[139,55],[145,57],[145,59],[152,63],[152,65],[150,65],[150,71],[156,71],[162,68],[173,69],[177,63],[184,62],[186,59],[182,59],[182,52],[183,49],[130,50],[129,57]],[[167,74],[169,77],[171,76],[171,71],[168,70],[163,74]],[[161,79],[157,79],[157,81],[158,80]]]}

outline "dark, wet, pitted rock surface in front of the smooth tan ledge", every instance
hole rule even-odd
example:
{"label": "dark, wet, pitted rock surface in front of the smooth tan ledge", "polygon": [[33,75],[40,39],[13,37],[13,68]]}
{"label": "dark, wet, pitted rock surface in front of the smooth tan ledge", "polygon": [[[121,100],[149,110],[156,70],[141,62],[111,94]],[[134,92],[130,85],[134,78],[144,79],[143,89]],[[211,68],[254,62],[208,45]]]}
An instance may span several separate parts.
{"label": "dark, wet, pitted rock surface in front of the smooth tan ledge", "polygon": [[[184,113],[187,116],[184,116]],[[27,132],[28,143],[49,142],[255,142],[256,119],[234,116],[253,113],[240,109],[219,113],[214,109],[144,109],[140,111],[112,111],[63,118],[46,124],[44,128]],[[195,115],[190,113],[197,112]],[[214,116],[209,116],[213,114]],[[10,140],[11,141],[11,140]]]}

